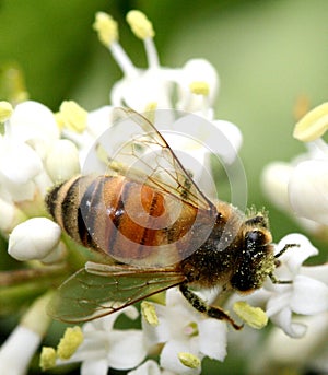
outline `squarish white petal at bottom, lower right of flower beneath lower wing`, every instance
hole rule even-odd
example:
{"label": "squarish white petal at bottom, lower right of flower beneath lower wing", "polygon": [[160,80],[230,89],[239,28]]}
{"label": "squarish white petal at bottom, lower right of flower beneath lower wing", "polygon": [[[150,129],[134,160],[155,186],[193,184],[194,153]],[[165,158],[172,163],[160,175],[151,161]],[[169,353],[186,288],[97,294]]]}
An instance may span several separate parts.
{"label": "squarish white petal at bottom, lower right of flower beneath lower wing", "polygon": [[142,331],[136,329],[113,330],[107,361],[113,368],[128,370],[138,366],[147,355]]}

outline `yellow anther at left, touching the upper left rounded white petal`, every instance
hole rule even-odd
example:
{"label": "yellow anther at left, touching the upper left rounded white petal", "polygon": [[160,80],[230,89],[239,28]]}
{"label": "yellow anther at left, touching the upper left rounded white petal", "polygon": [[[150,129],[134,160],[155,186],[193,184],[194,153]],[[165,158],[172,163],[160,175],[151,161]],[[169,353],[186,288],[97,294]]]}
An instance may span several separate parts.
{"label": "yellow anther at left, touching the upper left rounded white petal", "polygon": [[87,125],[87,112],[73,101],[62,102],[60,106],[61,120],[69,130],[83,132]]}

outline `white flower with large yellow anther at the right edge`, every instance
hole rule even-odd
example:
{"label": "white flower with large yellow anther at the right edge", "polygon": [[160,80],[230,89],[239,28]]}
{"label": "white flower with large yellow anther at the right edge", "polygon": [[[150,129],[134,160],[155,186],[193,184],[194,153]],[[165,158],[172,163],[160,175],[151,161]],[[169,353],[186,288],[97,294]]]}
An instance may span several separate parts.
{"label": "white flower with large yellow anther at the right edge", "polygon": [[301,225],[313,233],[328,225],[328,147],[320,137],[327,130],[328,104],[301,119],[294,137],[305,141],[307,152],[290,164],[272,163],[262,174],[269,198],[282,210],[296,214]]}

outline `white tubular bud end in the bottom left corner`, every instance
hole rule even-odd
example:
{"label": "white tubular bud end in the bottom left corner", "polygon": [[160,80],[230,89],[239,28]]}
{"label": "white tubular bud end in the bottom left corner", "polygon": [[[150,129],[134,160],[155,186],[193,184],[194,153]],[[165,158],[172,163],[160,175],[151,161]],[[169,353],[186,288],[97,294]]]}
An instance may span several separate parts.
{"label": "white tubular bud end in the bottom left corner", "polygon": [[17,326],[0,349],[0,374],[25,375],[42,337]]}

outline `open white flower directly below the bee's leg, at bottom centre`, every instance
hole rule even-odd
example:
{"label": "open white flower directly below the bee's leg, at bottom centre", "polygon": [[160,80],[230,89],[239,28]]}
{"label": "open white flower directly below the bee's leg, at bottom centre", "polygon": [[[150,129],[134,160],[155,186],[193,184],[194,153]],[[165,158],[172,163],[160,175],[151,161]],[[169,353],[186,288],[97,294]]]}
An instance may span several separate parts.
{"label": "open white flower directly below the bee's leg, at bottom centre", "polygon": [[188,304],[181,293],[172,289],[166,292],[166,305],[155,304],[159,326],[143,321],[143,331],[150,344],[164,343],[161,366],[177,374],[200,374],[199,368],[185,366],[180,353],[198,359],[209,356],[223,361],[226,354],[226,325],[206,318]]}

